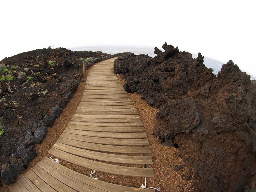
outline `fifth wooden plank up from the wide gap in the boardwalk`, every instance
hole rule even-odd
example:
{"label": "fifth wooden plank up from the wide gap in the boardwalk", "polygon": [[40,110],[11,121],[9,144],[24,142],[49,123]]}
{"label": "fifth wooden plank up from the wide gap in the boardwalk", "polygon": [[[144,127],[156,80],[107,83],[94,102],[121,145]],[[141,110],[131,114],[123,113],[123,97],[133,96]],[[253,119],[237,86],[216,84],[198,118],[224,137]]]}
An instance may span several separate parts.
{"label": "fifth wooden plank up from the wide gap in the boardwalk", "polygon": [[95,132],[95,131],[83,131],[76,129],[66,128],[63,132],[71,133],[76,135],[84,135],[90,137],[100,137],[100,138],[117,138],[117,139],[145,139],[148,138],[146,132],[142,133],[120,133],[120,132]]}

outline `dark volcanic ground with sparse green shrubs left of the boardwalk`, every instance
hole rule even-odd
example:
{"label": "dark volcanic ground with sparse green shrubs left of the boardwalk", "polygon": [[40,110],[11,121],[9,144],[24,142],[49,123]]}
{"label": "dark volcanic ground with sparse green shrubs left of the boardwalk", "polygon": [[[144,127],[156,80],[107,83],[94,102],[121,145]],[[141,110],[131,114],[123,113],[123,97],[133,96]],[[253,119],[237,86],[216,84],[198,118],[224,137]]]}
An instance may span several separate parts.
{"label": "dark volcanic ground with sparse green shrubs left of the boardwalk", "polygon": [[[0,81],[0,123],[1,129],[4,129],[0,137],[0,167],[10,163],[10,156],[24,142],[27,131],[34,132],[40,122],[46,125],[44,116],[51,116],[55,106],[60,107],[60,113],[72,98],[83,79],[83,60],[80,58],[91,58],[85,62],[87,69],[95,62],[110,57],[92,51],[48,48],[20,53],[0,61],[8,69],[7,72],[1,69],[0,77],[12,75],[13,78]],[[51,65],[49,61],[56,62]]]}

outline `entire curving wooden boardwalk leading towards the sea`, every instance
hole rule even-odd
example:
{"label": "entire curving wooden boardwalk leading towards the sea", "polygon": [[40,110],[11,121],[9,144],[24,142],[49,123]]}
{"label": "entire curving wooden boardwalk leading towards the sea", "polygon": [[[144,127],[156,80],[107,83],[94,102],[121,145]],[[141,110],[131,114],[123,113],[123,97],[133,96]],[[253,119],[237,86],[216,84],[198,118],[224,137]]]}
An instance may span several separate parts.
{"label": "entire curving wooden boardwalk leading towards the sea", "polygon": [[[99,172],[153,177],[147,134],[137,109],[113,74],[116,58],[97,63],[89,72],[76,113],[50,149],[53,156]],[[123,155],[120,155],[123,154]],[[129,154],[138,154],[137,156]],[[122,165],[118,165],[122,164]],[[127,164],[127,166],[124,166]],[[140,167],[132,167],[139,164]],[[155,191],[95,180],[44,157],[10,191]]]}

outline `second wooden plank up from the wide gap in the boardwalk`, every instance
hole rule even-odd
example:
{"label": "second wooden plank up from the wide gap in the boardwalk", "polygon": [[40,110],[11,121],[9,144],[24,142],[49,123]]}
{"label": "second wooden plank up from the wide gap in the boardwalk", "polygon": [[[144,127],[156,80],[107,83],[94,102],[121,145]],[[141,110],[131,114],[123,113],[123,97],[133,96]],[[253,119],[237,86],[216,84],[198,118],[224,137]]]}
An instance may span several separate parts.
{"label": "second wooden plank up from the wide gap in the boardwalk", "polygon": [[120,163],[120,164],[153,164],[151,156],[127,156],[127,155],[116,155],[101,153],[96,151],[90,151],[86,149],[76,148],[63,143],[56,142],[53,148],[57,148],[61,151],[65,151],[72,155],[88,158],[97,159],[99,161]]}

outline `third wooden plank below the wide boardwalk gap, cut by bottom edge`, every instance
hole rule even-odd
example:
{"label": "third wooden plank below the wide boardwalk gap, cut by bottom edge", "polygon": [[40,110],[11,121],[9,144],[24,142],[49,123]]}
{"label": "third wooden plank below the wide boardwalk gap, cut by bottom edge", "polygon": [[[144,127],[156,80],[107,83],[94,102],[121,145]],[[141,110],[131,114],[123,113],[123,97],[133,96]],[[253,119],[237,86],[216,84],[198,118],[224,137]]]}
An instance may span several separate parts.
{"label": "third wooden plank below the wide boardwalk gap, cut by bottom edge", "polygon": [[52,177],[49,173],[44,171],[38,164],[36,164],[33,168],[33,171],[38,175],[44,182],[46,182],[49,186],[55,189],[58,192],[75,192],[74,189],[68,187],[63,184],[59,180]]}

